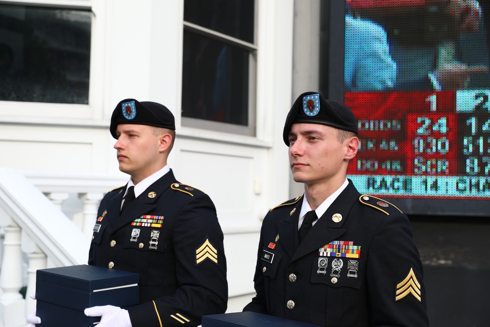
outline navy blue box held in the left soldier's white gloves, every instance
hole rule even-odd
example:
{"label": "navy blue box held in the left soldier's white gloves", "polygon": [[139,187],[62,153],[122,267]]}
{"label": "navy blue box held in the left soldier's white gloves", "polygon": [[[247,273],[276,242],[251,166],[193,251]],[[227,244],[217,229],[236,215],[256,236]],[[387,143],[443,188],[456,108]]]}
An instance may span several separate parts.
{"label": "navy blue box held in the left soldier's white gloves", "polygon": [[96,305],[129,307],[139,303],[139,274],[89,265],[40,269],[36,272],[36,315],[40,327],[89,327]]}

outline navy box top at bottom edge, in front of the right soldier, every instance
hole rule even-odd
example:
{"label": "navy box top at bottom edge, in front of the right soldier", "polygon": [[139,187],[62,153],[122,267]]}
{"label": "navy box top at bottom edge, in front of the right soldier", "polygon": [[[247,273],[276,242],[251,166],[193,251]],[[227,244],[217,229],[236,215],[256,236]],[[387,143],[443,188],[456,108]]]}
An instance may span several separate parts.
{"label": "navy box top at bottom edge, in front of the right soldier", "polygon": [[202,327],[318,327],[252,311],[202,316]]}

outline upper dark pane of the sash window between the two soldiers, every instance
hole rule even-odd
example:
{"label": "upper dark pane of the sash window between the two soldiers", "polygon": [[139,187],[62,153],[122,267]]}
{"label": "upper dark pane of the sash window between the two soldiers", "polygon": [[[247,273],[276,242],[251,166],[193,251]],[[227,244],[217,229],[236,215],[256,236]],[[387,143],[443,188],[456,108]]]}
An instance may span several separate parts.
{"label": "upper dark pane of the sash window between the two soldiers", "polygon": [[185,0],[184,21],[253,43],[254,0]]}

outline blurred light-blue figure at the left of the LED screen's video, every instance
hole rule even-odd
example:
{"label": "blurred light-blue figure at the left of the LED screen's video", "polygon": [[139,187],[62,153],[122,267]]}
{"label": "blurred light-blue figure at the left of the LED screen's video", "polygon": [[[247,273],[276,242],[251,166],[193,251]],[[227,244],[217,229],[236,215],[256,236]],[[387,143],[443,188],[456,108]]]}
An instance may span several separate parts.
{"label": "blurred light-blue figure at the left of the LED screen's video", "polygon": [[396,64],[389,53],[383,27],[346,15],[345,92],[389,90],[395,78]]}

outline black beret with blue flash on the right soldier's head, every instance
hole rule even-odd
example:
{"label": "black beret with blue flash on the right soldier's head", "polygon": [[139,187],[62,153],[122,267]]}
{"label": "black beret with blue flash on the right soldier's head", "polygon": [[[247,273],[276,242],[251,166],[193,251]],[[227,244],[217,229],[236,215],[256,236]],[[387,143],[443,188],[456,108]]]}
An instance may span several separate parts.
{"label": "black beret with blue flash on the right soldier's head", "polygon": [[356,117],[348,106],[337,101],[325,100],[317,92],[305,92],[294,101],[282,133],[287,146],[291,125],[296,123],[321,124],[359,133]]}

